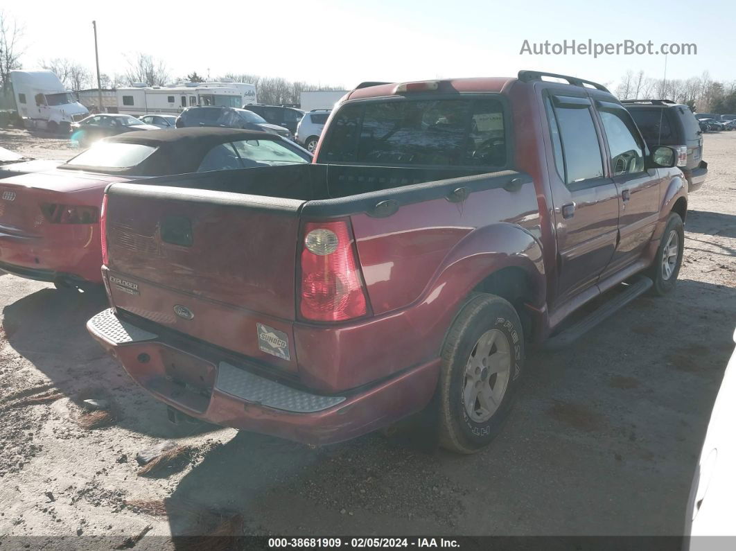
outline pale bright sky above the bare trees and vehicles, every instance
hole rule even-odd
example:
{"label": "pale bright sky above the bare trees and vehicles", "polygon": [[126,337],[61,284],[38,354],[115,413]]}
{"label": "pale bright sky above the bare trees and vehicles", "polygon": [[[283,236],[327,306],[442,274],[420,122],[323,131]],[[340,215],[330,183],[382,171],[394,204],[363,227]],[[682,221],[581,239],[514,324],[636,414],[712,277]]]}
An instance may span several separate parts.
{"label": "pale bright sky above the bare trees and vehicles", "polygon": [[[697,21],[734,21],[736,2],[662,3],[590,0],[13,0],[1,8],[25,27],[24,68],[67,57],[94,68],[97,21],[100,71],[124,74],[137,52],[165,61],[172,77],[191,71],[285,77],[351,88],[364,80],[514,76],[534,69],[615,87],[627,70],[662,78],[665,56],[520,54],[524,40],[695,43],[696,55],[668,55],[668,78],[736,80],[733,33]],[[697,8],[697,12],[695,12]]]}

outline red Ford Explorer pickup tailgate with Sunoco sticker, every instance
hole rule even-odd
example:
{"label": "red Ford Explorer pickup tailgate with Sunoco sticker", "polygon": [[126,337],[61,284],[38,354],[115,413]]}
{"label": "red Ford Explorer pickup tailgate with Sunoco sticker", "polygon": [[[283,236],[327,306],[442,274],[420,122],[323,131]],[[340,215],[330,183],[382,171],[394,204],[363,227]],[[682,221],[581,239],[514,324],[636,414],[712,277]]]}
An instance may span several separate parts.
{"label": "red Ford Explorer pickup tailgate with Sunoco sticker", "polygon": [[[105,225],[113,305],[295,369],[291,321],[302,203],[222,191],[110,186]],[[264,332],[286,334],[287,346],[263,352],[269,349],[259,336]]]}

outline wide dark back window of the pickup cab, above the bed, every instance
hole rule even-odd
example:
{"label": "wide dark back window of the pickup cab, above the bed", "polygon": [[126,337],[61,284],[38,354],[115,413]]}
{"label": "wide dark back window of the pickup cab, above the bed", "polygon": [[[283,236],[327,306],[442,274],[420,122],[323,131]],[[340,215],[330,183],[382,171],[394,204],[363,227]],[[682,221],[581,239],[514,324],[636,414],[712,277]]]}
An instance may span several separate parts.
{"label": "wide dark back window of the pickup cab, above the bed", "polygon": [[496,99],[348,104],[330,124],[319,162],[504,166],[503,105]]}

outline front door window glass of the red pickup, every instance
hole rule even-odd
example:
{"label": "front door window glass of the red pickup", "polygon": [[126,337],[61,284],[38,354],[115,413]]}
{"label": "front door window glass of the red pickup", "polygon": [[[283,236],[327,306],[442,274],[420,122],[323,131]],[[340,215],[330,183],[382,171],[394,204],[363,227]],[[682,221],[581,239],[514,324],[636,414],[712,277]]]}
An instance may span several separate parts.
{"label": "front door window glass of the red pickup", "polygon": [[644,170],[644,149],[627,112],[620,108],[598,110],[603,122],[614,176]]}

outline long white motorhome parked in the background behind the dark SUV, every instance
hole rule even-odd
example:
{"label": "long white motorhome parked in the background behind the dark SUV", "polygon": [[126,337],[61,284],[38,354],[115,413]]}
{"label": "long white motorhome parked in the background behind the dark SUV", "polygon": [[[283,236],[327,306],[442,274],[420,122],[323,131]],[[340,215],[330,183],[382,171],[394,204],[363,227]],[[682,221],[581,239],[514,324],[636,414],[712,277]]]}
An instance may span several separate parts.
{"label": "long white motorhome parked in the background behind the dark SUV", "polygon": [[194,105],[242,107],[255,103],[255,86],[243,82],[187,82],[174,86],[130,86],[116,90],[118,113],[177,115]]}

